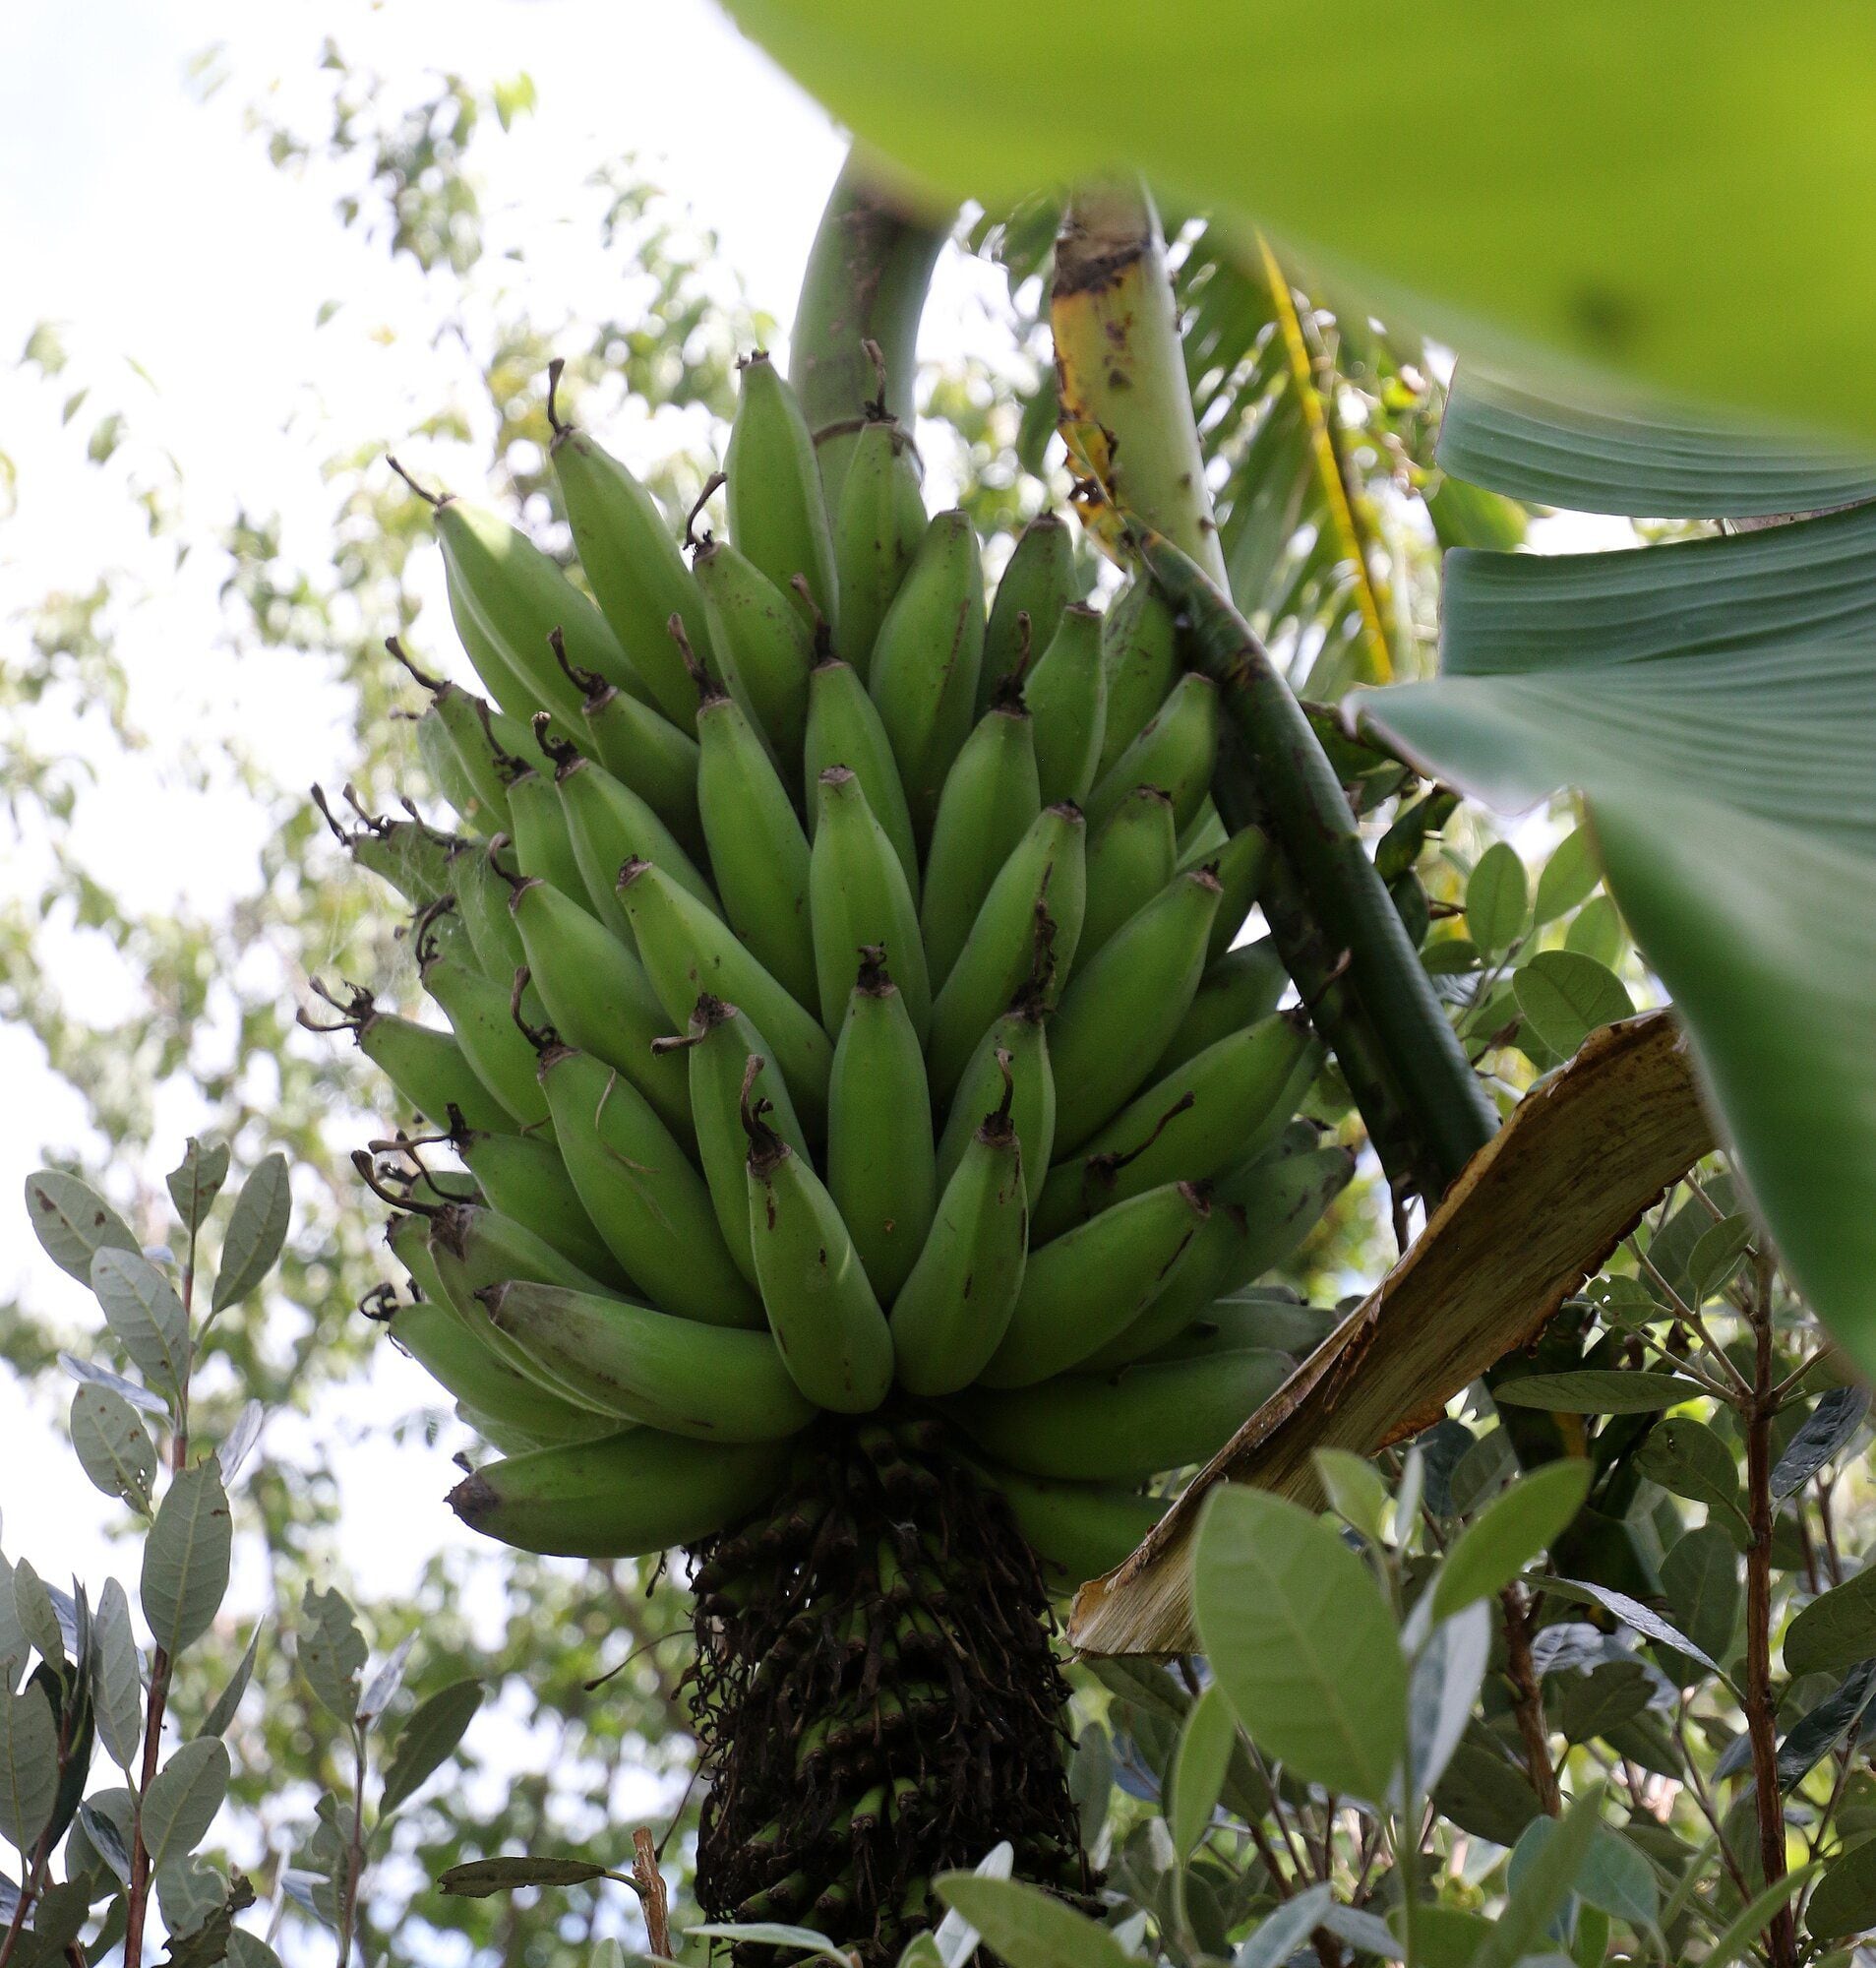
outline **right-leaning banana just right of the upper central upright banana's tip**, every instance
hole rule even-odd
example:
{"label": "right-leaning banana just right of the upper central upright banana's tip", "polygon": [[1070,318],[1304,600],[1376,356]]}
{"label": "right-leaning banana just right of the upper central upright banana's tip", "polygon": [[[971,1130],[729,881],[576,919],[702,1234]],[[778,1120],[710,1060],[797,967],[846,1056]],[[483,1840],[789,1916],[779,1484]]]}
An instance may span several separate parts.
{"label": "right-leaning banana just right of the upper central upright banana's tip", "polygon": [[924,931],[932,984],[942,986],[997,870],[1042,811],[1034,720],[1017,691],[977,718],[944,775],[924,858]]}

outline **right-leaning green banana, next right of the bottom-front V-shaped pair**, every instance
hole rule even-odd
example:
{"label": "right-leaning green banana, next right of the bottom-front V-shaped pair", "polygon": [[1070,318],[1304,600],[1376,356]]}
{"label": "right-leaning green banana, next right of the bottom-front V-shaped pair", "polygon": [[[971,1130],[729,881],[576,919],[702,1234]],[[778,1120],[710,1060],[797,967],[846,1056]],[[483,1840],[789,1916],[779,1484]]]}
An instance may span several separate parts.
{"label": "right-leaning green banana, next right of the bottom-front V-shaped pair", "polygon": [[1211,1204],[1192,1183],[1162,1183],[1030,1252],[985,1387],[1034,1387],[1125,1332],[1166,1285]]}

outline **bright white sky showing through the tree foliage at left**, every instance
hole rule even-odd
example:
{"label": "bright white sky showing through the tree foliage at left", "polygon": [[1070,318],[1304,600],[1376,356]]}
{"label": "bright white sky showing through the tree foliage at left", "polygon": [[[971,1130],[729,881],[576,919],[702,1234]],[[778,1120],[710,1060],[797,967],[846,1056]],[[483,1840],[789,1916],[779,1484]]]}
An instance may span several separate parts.
{"label": "bright white sky showing through the tree foliage at left", "polygon": [[[348,433],[397,431],[409,398],[407,364],[421,348],[374,338],[417,317],[413,276],[346,236],[326,187],[269,169],[244,130],[244,104],[271,75],[311,77],[330,33],[354,59],[387,73],[456,67],[470,77],[529,71],[539,110],[490,146],[492,197],[503,224],[531,226],[529,277],[564,281],[576,305],[588,293],[590,232],[564,222],[568,187],[596,163],[633,148],[651,173],[678,189],[722,238],[724,258],[751,301],[789,321],[798,268],[844,155],[826,116],[749,47],[704,0],[594,6],[564,0],[49,0],[0,6],[0,453],[18,474],[18,510],[0,525],[0,661],[20,634],[16,612],[47,586],[81,588],[98,565],[147,557],[122,502],[100,500],[94,472],[61,431],[57,392],[12,364],[31,327],[63,323],[73,368],[102,376],[134,403],[151,457],[173,453],[191,512],[226,512],[244,488],[267,486],[287,520],[324,525],[328,508],[313,472],[321,425],[342,405]],[[220,45],[234,81],[199,100],[191,63]],[[295,83],[287,81],[289,92]],[[564,236],[562,236],[564,234]],[[350,295],[354,333],[317,331],[319,307]],[[134,299],[132,299],[134,297]],[[964,333],[958,297],[934,311],[944,335]],[[147,382],[126,366],[136,358]],[[285,427],[285,429],[283,429]],[[297,508],[297,510],[295,510]],[[4,504],[0,504],[4,514]],[[203,581],[208,569],[203,569]],[[230,829],[214,791],[177,769],[203,703],[240,701],[285,783],[346,773],[344,734],[317,681],[236,673],[212,647],[214,596],[185,569],[122,638],[140,677],[138,718],[149,754],[85,801],[79,846],[108,864],[132,905],[183,897],[212,909],[252,880],[256,842]],[[140,667],[142,665],[142,667]],[[149,825],[151,803],[163,821]],[[0,892],[31,882],[31,842],[0,856]],[[12,866],[8,868],[8,860]],[[122,982],[88,964],[69,937],[49,933],[43,960],[77,1004],[108,1015]],[[85,1147],[75,1096],[45,1069],[37,1045],[0,1031],[0,1289],[83,1332],[94,1321],[83,1289],[29,1238],[20,1185],[47,1149]],[[195,1116],[163,1116],[159,1139],[181,1143]],[[173,1159],[173,1157],[171,1157]],[[147,1175],[167,1167],[159,1161]],[[389,1423],[435,1405],[437,1389],[411,1362],[380,1348],[364,1387],[348,1387],[344,1415],[269,1419],[269,1446],[293,1452],[313,1433],[350,1439],[340,1458],[344,1549],[374,1596],[407,1588],[439,1545],[476,1547],[440,1504],[454,1478],[448,1446],[399,1446]],[[63,1395],[61,1395],[63,1405]],[[435,1507],[383,1511],[385,1494],[435,1498]],[[92,1588],[134,1553],[112,1545],[120,1511],[77,1468],[47,1397],[29,1401],[0,1370],[0,1537],[10,1557]],[[252,1543],[252,1541],[250,1541]],[[499,1559],[486,1543],[490,1628],[499,1616]],[[254,1616],[265,1592],[258,1547],[238,1561],[226,1616]],[[132,1592],[132,1600],[136,1592]],[[505,1753],[531,1755],[513,1718],[486,1714],[478,1746],[507,1732]],[[633,1807],[627,1807],[633,1809]],[[635,1807],[647,1809],[641,1799]]]}

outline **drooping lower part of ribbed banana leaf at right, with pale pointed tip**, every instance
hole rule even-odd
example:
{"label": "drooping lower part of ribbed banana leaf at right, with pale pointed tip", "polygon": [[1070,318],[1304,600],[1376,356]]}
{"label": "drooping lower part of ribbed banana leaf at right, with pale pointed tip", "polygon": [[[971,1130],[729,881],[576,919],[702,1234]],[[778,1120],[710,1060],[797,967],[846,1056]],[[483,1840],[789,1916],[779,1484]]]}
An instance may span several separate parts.
{"label": "drooping lower part of ribbed banana leaf at right, with pale pointed tip", "polygon": [[[1636,555],[1656,559],[1656,555]],[[1758,1208],[1876,1370],[1876,646],[1559,657],[1365,693],[1404,756],[1500,809],[1583,795]]]}

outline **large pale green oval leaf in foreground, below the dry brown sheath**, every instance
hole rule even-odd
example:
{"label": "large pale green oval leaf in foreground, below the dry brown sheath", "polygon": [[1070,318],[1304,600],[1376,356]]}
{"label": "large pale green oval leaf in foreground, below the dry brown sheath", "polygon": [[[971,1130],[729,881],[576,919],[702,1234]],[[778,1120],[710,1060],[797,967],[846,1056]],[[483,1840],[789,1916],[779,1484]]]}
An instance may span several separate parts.
{"label": "large pale green oval leaf in foreground, below the dry brown sheath", "polygon": [[1219,1488],[1200,1521],[1194,1614],[1266,1753],[1378,1803],[1406,1742],[1406,1665],[1367,1567],[1286,1498]]}

